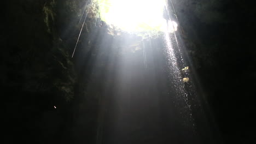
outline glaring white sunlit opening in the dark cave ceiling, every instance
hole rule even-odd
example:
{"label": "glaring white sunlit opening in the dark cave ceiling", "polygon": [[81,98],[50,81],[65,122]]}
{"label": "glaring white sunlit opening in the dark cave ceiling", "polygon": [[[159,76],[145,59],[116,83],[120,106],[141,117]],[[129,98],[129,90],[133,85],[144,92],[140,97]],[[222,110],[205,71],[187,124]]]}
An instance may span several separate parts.
{"label": "glaring white sunlit opening in the dark cave ceiling", "polygon": [[[100,17],[126,32],[176,31],[177,23],[163,17],[165,0],[97,0]],[[168,24],[167,24],[168,23]]]}

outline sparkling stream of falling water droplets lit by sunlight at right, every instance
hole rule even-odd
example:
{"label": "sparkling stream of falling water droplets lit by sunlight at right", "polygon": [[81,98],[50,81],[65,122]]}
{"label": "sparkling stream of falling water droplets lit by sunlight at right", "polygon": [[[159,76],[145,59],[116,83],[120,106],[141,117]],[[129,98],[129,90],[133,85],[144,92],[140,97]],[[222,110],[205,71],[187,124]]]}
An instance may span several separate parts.
{"label": "sparkling stream of falling water droplets lit by sunlight at right", "polygon": [[[174,98],[175,101],[173,101],[173,104],[180,109],[180,114],[184,119],[184,123],[187,125],[190,123],[192,124],[190,126],[194,127],[194,119],[192,117],[191,105],[188,100],[188,92],[185,90],[184,84],[184,82],[187,82],[185,80],[188,78],[182,77],[181,68],[178,67],[178,64],[184,67],[184,59],[182,58],[181,49],[178,46],[176,34],[175,32],[170,34],[170,32],[168,32],[169,27],[170,25],[167,23],[163,41],[165,43],[165,55],[168,60],[168,71],[170,71],[170,87],[176,91],[176,98]],[[177,49],[174,50],[174,47],[177,47]],[[180,57],[179,61],[177,55]]]}

